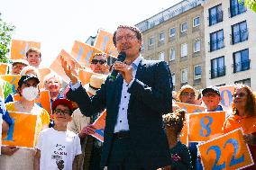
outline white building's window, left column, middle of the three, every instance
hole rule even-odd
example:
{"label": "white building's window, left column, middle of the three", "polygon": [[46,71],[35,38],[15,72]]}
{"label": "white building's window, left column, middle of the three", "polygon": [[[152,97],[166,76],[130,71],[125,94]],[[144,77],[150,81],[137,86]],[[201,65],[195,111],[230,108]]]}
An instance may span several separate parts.
{"label": "white building's window, left column, middle of the three", "polygon": [[224,48],[224,30],[210,34],[210,51]]}

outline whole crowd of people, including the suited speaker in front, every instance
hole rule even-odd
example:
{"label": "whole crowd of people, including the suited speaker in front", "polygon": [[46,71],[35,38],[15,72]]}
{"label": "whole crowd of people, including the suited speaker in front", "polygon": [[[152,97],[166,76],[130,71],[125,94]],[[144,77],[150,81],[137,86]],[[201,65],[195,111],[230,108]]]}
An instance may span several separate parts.
{"label": "whole crowd of people, including the suited speaker in front", "polygon": [[[20,75],[20,79],[16,89],[7,82],[3,85],[2,135],[14,129],[14,122],[23,121],[14,120],[9,112],[23,112],[36,115],[36,138],[34,148],[2,146],[0,170],[203,169],[198,143],[187,146],[179,139],[187,112],[175,102],[203,105],[205,112],[224,111],[219,88],[199,90],[183,85],[173,91],[167,63],[142,57],[142,32],[136,27],[120,25],[113,42],[126,54],[124,62],[117,60],[111,66],[119,73],[114,81],[108,76],[111,71],[104,53],[95,53],[91,59],[95,74],[87,85],[74,74],[75,62],[69,65],[63,57],[61,66],[70,82],[63,82],[53,72],[40,82],[39,49],[31,48],[25,59],[13,61],[10,75]],[[36,102],[43,90],[50,93],[51,112]],[[251,87],[235,85],[231,110],[223,134],[242,128],[242,140],[256,163],[256,95]],[[94,122],[104,111],[101,142],[91,135],[96,133]],[[23,126],[29,125],[23,122]]]}

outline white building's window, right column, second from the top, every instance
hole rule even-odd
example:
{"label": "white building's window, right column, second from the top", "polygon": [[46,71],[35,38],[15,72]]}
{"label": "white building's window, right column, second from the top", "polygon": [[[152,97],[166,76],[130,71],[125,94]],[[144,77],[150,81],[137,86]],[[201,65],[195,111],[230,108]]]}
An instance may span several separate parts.
{"label": "white building's window, right column, second from the top", "polygon": [[248,30],[246,21],[236,23],[232,26],[232,43],[248,40]]}

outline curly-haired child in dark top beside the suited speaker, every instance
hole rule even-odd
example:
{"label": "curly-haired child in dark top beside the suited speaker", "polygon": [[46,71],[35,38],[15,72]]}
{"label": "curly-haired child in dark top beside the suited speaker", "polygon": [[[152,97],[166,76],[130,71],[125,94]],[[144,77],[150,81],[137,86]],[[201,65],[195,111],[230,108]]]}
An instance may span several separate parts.
{"label": "curly-haired child in dark top beside the suited speaker", "polygon": [[178,136],[184,125],[185,114],[186,111],[178,109],[175,112],[163,115],[163,122],[169,139],[172,170],[192,169],[188,148],[178,140]]}

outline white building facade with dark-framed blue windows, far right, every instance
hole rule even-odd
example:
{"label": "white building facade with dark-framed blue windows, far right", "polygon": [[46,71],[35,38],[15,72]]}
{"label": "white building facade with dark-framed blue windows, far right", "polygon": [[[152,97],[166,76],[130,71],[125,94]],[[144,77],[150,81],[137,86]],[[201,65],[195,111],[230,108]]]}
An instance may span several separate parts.
{"label": "white building facade with dark-framed blue windows, far right", "polygon": [[206,85],[256,90],[256,13],[238,0],[209,0],[205,13]]}

